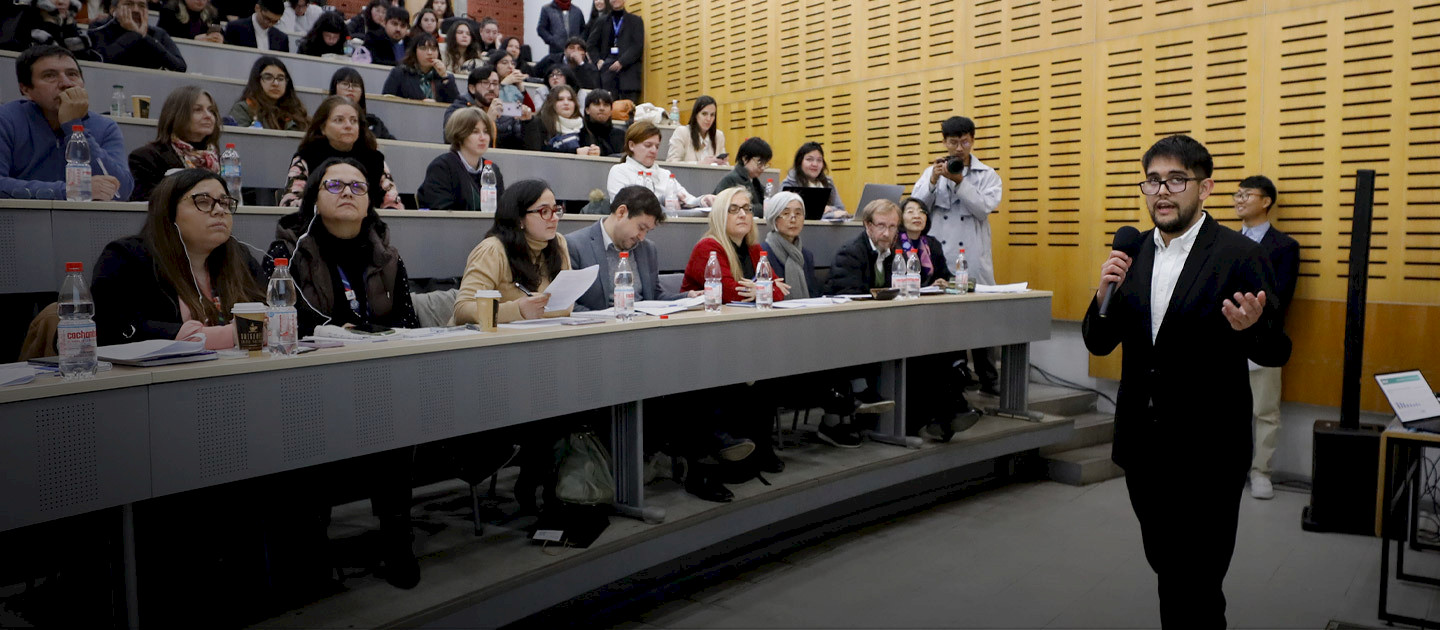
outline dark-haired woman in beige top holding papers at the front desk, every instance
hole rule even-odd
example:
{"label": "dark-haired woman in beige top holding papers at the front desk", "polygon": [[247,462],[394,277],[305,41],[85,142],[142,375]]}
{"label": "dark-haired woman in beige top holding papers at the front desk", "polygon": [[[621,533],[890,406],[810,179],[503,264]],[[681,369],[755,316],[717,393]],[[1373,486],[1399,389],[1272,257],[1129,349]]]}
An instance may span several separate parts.
{"label": "dark-haired woman in beige top holding papers at the front desk", "polygon": [[556,203],[550,184],[541,180],[505,187],[495,209],[495,226],[465,260],[455,324],[480,322],[478,291],[500,291],[495,324],[570,315],[569,308],[544,311],[550,301],[544,289],[570,269],[570,252],[556,232],[563,214],[564,206]]}

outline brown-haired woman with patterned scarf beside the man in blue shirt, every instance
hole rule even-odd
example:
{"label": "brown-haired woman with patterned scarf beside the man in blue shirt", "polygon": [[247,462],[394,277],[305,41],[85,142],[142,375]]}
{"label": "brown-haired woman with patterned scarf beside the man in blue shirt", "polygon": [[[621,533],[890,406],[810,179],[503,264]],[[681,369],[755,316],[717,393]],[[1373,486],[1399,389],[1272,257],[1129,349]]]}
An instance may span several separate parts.
{"label": "brown-haired woman with patterned scarf beside the man in blue shirt", "polygon": [[[130,152],[130,174],[135,178],[130,200],[150,198],[150,191],[173,170],[220,173],[219,147],[220,111],[210,92],[194,85],[176,88],[160,108],[154,142]],[[235,196],[239,194],[236,190]]]}

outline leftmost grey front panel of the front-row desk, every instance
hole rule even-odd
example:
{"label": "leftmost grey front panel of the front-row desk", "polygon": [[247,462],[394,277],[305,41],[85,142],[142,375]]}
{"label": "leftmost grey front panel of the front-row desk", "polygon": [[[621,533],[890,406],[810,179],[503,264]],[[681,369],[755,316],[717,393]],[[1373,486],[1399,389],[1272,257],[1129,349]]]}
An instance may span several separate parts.
{"label": "leftmost grey front panel of the front-row desk", "polygon": [[0,531],[153,496],[144,387],[0,406]]}

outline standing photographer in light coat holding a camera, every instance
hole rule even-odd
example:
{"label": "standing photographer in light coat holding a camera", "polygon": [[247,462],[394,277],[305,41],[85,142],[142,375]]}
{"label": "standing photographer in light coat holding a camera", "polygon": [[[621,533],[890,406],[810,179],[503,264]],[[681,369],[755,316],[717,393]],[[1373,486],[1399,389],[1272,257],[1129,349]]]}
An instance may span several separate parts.
{"label": "standing photographer in light coat holding a camera", "polygon": [[[999,174],[981,163],[971,151],[975,147],[975,122],[965,117],[950,117],[940,122],[945,155],[935,160],[910,197],[930,206],[930,236],[940,242],[945,259],[952,265],[965,247],[971,278],[982,285],[995,283],[995,263],[991,260],[989,213],[999,206],[1004,187]],[[981,391],[999,396],[995,364],[989,348],[976,348],[975,377]]]}

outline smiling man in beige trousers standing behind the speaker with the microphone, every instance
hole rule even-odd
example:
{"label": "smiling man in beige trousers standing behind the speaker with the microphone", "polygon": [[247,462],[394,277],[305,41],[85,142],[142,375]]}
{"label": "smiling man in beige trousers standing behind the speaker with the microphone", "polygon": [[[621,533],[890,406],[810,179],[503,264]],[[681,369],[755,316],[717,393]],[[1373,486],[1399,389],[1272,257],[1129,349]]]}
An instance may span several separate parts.
{"label": "smiling man in beige trousers standing behind the speaker with the microphone", "polygon": [[[1279,193],[1266,175],[1250,175],[1240,181],[1236,191],[1236,216],[1240,217],[1241,234],[1260,243],[1270,269],[1274,270],[1274,291],[1280,298],[1280,321],[1290,312],[1295,298],[1296,278],[1300,275],[1300,243],[1270,224],[1270,211]],[[1250,396],[1254,398],[1256,453],[1250,463],[1250,496],[1256,499],[1274,498],[1270,485],[1270,459],[1280,433],[1280,368],[1250,362]]]}

